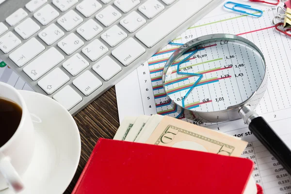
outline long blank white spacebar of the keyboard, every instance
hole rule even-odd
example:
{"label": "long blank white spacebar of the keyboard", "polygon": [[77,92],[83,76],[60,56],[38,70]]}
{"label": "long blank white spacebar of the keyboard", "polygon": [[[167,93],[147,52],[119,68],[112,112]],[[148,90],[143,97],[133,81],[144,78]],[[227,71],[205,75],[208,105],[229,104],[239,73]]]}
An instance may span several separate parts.
{"label": "long blank white spacebar of the keyboard", "polygon": [[177,29],[211,1],[212,0],[179,0],[137,32],[135,36],[148,48],[152,48],[166,37],[166,35]]}

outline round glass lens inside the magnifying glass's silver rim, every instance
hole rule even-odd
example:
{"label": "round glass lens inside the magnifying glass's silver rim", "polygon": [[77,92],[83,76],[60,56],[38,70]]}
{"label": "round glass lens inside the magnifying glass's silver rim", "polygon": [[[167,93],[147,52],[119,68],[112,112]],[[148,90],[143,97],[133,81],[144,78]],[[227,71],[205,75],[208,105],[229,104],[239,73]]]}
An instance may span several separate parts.
{"label": "round glass lens inside the magnifying glass's silver rim", "polygon": [[213,39],[185,50],[170,64],[165,92],[184,109],[226,110],[249,99],[265,76],[261,54],[234,39]]}

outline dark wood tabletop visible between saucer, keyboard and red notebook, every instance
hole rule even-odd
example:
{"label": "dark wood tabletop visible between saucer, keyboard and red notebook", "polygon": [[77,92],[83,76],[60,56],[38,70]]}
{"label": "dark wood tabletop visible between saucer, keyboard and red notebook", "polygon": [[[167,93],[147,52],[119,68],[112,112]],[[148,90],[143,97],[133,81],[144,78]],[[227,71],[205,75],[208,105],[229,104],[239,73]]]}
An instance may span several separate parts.
{"label": "dark wood tabletop visible between saucer, keyboard and red notebook", "polygon": [[71,194],[99,137],[113,139],[119,127],[115,87],[74,116],[81,136],[81,158],[65,194]]}

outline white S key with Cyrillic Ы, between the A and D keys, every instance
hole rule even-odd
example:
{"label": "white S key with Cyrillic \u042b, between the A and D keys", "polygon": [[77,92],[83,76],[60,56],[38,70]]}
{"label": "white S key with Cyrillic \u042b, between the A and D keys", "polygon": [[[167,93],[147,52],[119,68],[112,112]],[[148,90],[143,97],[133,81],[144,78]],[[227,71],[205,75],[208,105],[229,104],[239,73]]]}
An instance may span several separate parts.
{"label": "white S key with Cyrillic \u042b, between the A and D keys", "polygon": [[87,41],[92,40],[97,34],[103,31],[103,28],[97,24],[93,19],[89,19],[79,28],[77,28],[77,32]]}

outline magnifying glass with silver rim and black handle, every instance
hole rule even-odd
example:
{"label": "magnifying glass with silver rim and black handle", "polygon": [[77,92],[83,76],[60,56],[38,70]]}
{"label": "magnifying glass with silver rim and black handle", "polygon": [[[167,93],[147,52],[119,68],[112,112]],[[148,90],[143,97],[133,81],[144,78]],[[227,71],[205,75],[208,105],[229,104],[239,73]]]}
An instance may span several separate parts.
{"label": "magnifying glass with silver rim and black handle", "polygon": [[196,122],[242,118],[250,131],[291,174],[291,151],[255,111],[267,89],[265,58],[251,41],[211,34],[182,45],[162,74],[170,106]]}

